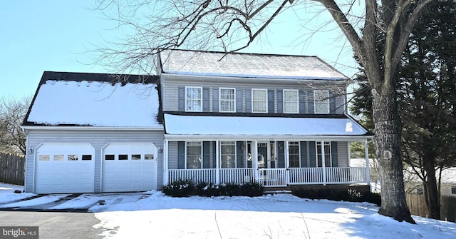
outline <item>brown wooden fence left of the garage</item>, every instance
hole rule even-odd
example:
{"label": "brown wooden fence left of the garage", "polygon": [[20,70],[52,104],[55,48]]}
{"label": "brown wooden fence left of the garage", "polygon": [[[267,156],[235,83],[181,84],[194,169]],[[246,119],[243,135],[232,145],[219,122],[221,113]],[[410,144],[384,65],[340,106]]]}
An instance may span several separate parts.
{"label": "brown wooden fence left of the garage", "polygon": [[0,182],[24,185],[25,158],[0,153]]}

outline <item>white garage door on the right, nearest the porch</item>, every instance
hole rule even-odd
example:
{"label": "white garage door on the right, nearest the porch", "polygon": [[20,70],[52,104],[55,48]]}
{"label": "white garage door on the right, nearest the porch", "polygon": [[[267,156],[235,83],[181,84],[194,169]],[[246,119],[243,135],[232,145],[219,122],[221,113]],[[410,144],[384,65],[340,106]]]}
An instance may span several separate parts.
{"label": "white garage door on the right, nearest the porch", "polygon": [[103,148],[103,192],[157,189],[157,147],[152,143],[108,143]]}

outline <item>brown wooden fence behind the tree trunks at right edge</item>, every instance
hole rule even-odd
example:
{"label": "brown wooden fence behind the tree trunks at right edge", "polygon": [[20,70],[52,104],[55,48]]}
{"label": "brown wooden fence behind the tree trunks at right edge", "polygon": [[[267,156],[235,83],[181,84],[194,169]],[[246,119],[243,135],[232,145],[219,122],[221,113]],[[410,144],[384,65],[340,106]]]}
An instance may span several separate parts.
{"label": "brown wooden fence behind the tree trunks at right edge", "polygon": [[[406,198],[410,213],[427,218],[427,207],[424,195],[407,194]],[[440,220],[456,222],[456,196],[440,196]]]}

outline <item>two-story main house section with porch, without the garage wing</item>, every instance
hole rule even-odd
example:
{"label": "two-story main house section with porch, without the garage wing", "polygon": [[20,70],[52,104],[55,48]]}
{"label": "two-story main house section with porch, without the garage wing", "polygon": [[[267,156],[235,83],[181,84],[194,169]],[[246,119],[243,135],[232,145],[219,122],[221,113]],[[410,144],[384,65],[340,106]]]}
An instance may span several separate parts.
{"label": "two-story main house section with porch, without the garage wing", "polygon": [[371,138],[347,115],[346,76],[314,56],[162,51],[163,183],[266,187],[368,182],[349,143]]}

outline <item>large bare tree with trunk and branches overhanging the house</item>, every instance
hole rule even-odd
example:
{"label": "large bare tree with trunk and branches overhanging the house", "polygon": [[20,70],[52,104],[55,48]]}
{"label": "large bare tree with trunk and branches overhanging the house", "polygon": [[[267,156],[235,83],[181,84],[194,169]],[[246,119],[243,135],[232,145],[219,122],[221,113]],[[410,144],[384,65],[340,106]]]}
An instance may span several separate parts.
{"label": "large bare tree with trunk and branches overhanging the house", "polygon": [[[135,29],[135,34],[124,39],[116,49],[98,49],[102,54],[98,63],[150,72],[153,56],[160,49],[217,48],[229,54],[247,48],[282,12],[300,14],[310,4],[321,4],[348,39],[371,83],[376,155],[382,183],[379,213],[415,223],[405,203],[401,127],[393,76],[415,21],[430,1],[360,1],[365,11],[356,16],[352,7],[357,3],[354,0],[345,3],[335,0],[98,0],[97,9],[104,13],[115,11],[114,16],[106,16],[118,21],[120,29],[126,26]],[[357,31],[358,26],[361,32]],[[382,48],[378,48],[379,42]]]}

